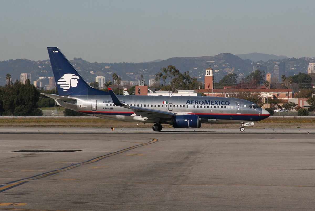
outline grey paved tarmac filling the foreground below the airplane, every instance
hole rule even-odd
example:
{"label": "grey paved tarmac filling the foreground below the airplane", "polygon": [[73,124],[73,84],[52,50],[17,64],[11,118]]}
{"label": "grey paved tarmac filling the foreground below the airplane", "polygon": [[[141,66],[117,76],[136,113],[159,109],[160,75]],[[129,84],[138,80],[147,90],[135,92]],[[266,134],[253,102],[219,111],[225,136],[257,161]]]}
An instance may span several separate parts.
{"label": "grey paved tarmac filling the foreground below the airplane", "polygon": [[1,128],[0,210],[314,209],[312,129],[122,129]]}

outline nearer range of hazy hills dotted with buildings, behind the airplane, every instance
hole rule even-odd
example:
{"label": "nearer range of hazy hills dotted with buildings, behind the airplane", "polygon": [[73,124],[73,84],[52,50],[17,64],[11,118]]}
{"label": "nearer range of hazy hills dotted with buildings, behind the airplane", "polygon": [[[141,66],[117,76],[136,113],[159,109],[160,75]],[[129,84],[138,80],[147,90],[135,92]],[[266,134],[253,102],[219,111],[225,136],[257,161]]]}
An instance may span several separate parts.
{"label": "nearer range of hazy hills dotted with buildings, behind the airplane", "polygon": [[[268,72],[273,73],[275,61],[279,60],[268,60],[268,62],[260,60],[259,65],[267,66]],[[312,62],[305,57],[283,59],[283,61],[286,62],[286,70],[290,74],[306,73],[308,62]],[[231,53],[203,57],[173,57],[166,60],[141,63],[91,63],[82,58],[74,58],[70,62],[88,83],[95,81],[96,76],[104,76],[107,80],[112,81],[113,73],[119,75],[122,80],[128,81],[138,81],[142,74],[148,82],[149,79],[155,78],[155,74],[160,72],[161,68],[168,65],[175,66],[182,73],[189,71],[192,77],[196,77],[202,82],[204,80],[205,69],[209,66],[214,70],[215,82],[219,82],[223,76],[229,73],[236,73],[239,80],[243,76],[249,75],[253,70],[253,65],[255,65],[250,59],[242,59]],[[7,73],[11,74],[13,80],[20,80],[21,73],[31,73],[31,82],[40,78],[43,85],[49,83],[48,77],[53,77],[49,60],[10,59],[1,61],[0,85],[2,86],[6,83],[5,77]]]}

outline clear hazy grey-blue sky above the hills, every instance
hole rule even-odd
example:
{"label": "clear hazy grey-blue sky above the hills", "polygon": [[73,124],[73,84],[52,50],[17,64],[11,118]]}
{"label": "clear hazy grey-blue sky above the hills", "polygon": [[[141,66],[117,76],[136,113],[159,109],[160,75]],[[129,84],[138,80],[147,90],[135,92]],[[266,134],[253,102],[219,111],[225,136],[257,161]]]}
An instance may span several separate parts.
{"label": "clear hazy grey-blue sky above the hills", "polygon": [[314,0],[0,0],[0,61],[149,62],[220,53],[315,57]]}

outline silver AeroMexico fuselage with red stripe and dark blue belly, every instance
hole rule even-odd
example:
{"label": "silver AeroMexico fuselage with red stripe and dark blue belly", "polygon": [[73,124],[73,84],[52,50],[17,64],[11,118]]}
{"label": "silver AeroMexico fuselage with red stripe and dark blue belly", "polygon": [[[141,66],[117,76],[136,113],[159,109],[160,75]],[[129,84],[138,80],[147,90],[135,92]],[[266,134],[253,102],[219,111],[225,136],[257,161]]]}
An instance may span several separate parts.
{"label": "silver AeroMexico fuselage with red stripe and dark blue belly", "polygon": [[[110,95],[70,97],[76,99],[76,101],[64,102],[58,100],[58,103],[66,108],[105,119],[169,124],[168,115],[156,117],[145,111],[133,111],[115,106]],[[176,116],[181,114],[198,115],[200,123],[239,124],[257,122],[269,116],[269,113],[258,108],[256,104],[236,98],[135,95],[118,95],[118,97],[127,106],[173,112]]]}

